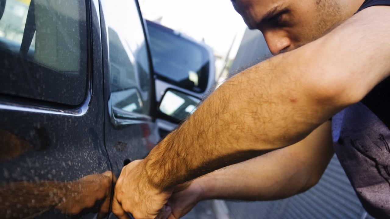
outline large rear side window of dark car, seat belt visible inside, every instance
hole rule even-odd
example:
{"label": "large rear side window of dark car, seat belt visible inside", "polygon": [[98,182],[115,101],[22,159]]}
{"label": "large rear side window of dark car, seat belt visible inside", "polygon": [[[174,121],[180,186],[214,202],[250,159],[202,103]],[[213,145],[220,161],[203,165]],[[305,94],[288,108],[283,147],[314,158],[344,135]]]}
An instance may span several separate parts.
{"label": "large rear side window of dark car, seat belt visible inside", "polygon": [[85,98],[86,80],[85,0],[5,1],[1,94],[78,105]]}

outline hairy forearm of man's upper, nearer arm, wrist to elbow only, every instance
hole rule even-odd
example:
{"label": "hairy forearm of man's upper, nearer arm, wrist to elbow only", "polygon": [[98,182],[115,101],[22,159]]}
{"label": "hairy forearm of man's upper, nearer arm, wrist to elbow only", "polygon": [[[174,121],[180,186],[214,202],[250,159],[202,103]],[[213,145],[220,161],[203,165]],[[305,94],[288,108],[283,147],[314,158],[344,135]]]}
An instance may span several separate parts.
{"label": "hairy forearm of man's upper, nearer arm, wrist to elbow only", "polygon": [[310,92],[304,72],[283,64],[284,55],[225,82],[161,141],[145,159],[152,184],[168,188],[291,145],[337,113],[325,95]]}

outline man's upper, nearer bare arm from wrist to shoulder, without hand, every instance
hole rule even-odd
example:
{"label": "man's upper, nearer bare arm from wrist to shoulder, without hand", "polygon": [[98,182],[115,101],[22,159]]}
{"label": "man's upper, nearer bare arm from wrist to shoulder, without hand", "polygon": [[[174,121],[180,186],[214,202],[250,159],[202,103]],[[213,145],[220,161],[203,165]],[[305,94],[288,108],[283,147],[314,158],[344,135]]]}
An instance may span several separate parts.
{"label": "man's upper, nearer bare arm from wrist to shoulder, without hand", "polygon": [[389,75],[389,37],[390,8],[371,7],[231,78],[147,156],[151,184],[169,188],[302,140]]}

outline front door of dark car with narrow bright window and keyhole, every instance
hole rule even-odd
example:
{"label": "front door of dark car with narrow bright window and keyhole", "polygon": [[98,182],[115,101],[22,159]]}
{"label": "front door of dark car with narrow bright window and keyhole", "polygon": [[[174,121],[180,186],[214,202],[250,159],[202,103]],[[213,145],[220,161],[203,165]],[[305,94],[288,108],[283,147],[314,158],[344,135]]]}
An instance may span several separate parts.
{"label": "front door of dark car with narrow bright window and keyhole", "polygon": [[118,177],[157,143],[156,101],[145,29],[137,0],[101,0],[105,144]]}

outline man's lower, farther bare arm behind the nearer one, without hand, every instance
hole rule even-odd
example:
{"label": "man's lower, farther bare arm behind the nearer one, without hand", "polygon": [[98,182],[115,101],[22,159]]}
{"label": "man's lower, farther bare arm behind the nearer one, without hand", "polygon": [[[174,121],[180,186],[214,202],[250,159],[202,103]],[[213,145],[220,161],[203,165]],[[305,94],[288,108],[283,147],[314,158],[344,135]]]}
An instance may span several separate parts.
{"label": "man's lower, farther bare arm behind the nearer one, without hand", "polygon": [[195,179],[202,199],[277,200],[310,189],[334,154],[330,123],[294,145]]}

